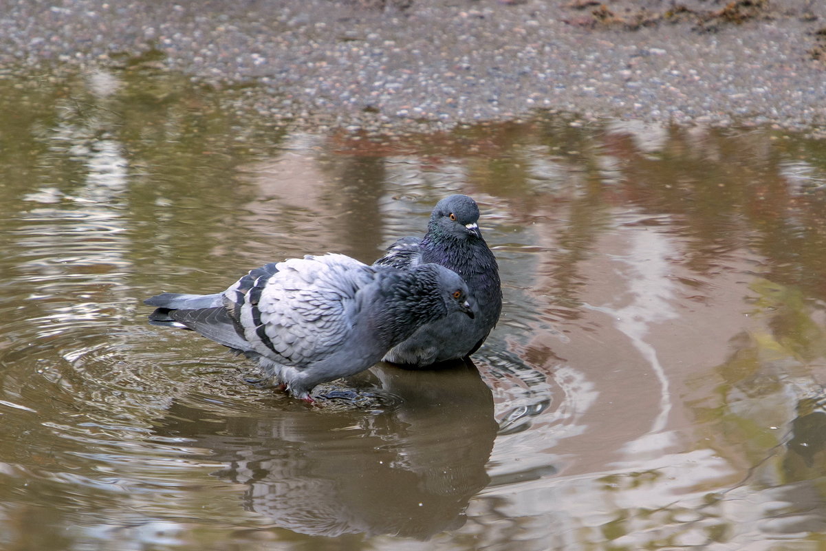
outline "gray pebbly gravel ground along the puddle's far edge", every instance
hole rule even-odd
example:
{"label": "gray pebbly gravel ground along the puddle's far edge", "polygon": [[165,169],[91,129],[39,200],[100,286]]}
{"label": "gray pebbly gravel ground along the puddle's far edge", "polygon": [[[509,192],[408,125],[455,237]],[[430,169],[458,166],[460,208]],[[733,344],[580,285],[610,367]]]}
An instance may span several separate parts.
{"label": "gray pebbly gravel ground along the puddle's far edge", "polygon": [[826,126],[819,0],[0,0],[0,12],[0,64],[15,72],[143,56],[259,83],[250,101],[276,118],[450,126],[546,109]]}

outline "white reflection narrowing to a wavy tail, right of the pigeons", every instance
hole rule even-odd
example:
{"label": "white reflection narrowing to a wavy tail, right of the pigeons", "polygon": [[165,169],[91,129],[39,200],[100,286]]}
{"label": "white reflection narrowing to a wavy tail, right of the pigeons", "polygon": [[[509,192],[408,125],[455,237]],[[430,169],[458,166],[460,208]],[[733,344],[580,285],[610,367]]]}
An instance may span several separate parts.
{"label": "white reflection narrowing to a wavy tail, right of the pigeons", "polygon": [[[647,436],[650,436],[665,428],[672,410],[668,378],[657,359],[657,350],[645,340],[645,337],[652,325],[677,317],[677,312],[672,306],[675,286],[667,277],[667,254],[674,250],[674,246],[666,236],[651,230],[635,231],[630,235],[630,240],[629,254],[617,259],[631,268],[631,273],[627,277],[629,289],[622,295],[623,298],[630,298],[629,304],[617,308],[596,306],[594,309],[603,311],[614,319],[617,330],[628,335],[634,348],[638,349],[651,365],[660,383],[660,411],[648,432]],[[643,444],[643,439],[629,442],[626,448],[629,451],[639,448],[640,444]],[[659,441],[651,444],[662,449],[664,443]],[[648,449],[644,444],[642,447]]]}

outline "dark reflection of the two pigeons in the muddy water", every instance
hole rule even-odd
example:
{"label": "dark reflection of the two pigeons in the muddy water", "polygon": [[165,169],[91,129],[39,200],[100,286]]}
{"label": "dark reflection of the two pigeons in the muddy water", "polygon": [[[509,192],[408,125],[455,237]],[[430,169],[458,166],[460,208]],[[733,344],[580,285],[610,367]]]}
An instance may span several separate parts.
{"label": "dark reflection of the two pigeons in the muddy water", "polygon": [[178,402],[157,432],[207,449],[205,459],[225,463],[215,476],[248,487],[244,508],[297,533],[427,539],[463,525],[468,501],[489,482],[497,430],[491,390],[475,366],[378,364],[349,383],[387,405],[288,404],[259,416],[216,416],[209,402]]}

